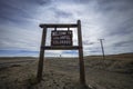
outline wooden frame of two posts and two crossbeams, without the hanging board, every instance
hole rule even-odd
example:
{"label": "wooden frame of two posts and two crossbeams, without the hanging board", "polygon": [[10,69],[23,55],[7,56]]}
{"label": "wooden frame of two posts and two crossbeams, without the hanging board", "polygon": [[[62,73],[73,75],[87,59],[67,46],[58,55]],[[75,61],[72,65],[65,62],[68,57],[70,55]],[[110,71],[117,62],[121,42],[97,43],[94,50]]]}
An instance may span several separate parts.
{"label": "wooden frame of two posts and two crossbeams, without the hanging board", "polygon": [[[78,20],[76,23],[65,23],[65,24],[40,24],[42,30],[42,39],[40,47],[39,65],[37,72],[37,80],[40,82],[42,80],[43,72],[43,60],[44,60],[44,50],[79,50],[79,66],[80,66],[80,82],[85,86],[85,72],[84,72],[84,60],[83,60],[83,47],[82,47],[82,31],[81,31],[81,21]],[[45,46],[47,30],[48,28],[76,28],[78,30],[78,46]]]}

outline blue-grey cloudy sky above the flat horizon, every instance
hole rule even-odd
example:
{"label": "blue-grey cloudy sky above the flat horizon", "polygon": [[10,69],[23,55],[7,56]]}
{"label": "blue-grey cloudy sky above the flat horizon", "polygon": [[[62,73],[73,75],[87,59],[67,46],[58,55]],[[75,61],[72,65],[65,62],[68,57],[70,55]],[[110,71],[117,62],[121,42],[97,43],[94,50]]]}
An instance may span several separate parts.
{"label": "blue-grey cloudy sky above the flat horizon", "polygon": [[[0,56],[38,57],[40,23],[75,23],[79,19],[84,56],[101,55],[98,39],[104,39],[105,55],[133,52],[133,0],[0,0]],[[76,30],[72,30],[76,44]],[[78,51],[45,51],[45,56],[60,55],[73,57]]]}

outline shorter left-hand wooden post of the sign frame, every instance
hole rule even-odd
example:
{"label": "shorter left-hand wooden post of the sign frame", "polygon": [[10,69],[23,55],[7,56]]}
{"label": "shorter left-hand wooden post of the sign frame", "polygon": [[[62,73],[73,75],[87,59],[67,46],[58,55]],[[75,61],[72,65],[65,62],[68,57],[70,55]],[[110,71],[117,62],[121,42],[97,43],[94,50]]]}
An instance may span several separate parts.
{"label": "shorter left-hand wooden post of the sign frame", "polygon": [[44,60],[44,49],[42,47],[45,46],[45,37],[47,37],[47,28],[44,27],[42,31],[42,40],[41,40],[40,57],[39,57],[38,73],[37,73],[38,82],[40,82],[42,79],[43,60]]}

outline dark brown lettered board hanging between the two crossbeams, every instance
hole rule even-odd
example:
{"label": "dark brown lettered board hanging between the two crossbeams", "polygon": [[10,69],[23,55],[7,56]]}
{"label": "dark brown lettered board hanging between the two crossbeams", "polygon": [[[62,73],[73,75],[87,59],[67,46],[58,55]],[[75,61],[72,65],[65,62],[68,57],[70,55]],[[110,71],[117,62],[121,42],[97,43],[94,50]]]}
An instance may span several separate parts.
{"label": "dark brown lettered board hanging between the two crossbeams", "polygon": [[71,30],[51,31],[51,46],[72,46]]}

